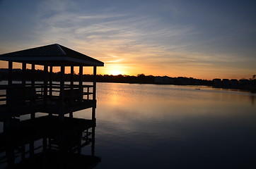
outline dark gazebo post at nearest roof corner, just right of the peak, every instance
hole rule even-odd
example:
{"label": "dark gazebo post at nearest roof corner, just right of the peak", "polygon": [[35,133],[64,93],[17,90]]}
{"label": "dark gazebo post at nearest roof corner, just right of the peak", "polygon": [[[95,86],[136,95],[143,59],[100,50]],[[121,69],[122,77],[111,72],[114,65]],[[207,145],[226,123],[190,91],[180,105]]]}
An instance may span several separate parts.
{"label": "dark gazebo post at nearest roof corner, just right of the peak", "polygon": [[62,63],[61,68],[61,75],[60,75],[60,89],[59,89],[59,120],[64,120],[64,74],[65,74],[65,65]]}

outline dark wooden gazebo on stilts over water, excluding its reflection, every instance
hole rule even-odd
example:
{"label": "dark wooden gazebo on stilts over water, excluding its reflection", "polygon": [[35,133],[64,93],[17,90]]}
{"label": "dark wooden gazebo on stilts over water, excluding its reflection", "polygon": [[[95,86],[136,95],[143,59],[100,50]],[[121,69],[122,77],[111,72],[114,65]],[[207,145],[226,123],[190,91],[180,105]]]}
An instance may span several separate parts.
{"label": "dark wooden gazebo on stilts over water, excluding its reflection", "polygon": [[[57,114],[63,119],[65,114],[72,116],[74,111],[92,108],[92,119],[95,118],[96,108],[96,70],[104,63],[74,51],[60,44],[15,51],[0,55],[1,61],[8,61],[8,83],[0,85],[0,118],[35,113]],[[13,83],[13,63],[22,63],[21,83]],[[25,73],[31,66],[30,81],[26,80]],[[35,65],[42,65],[44,80],[35,82]],[[74,67],[79,69],[78,82],[74,83]],[[52,71],[60,67],[60,80],[54,82]],[[83,84],[83,67],[93,68],[92,84]],[[64,80],[65,70],[70,68],[69,82]]]}

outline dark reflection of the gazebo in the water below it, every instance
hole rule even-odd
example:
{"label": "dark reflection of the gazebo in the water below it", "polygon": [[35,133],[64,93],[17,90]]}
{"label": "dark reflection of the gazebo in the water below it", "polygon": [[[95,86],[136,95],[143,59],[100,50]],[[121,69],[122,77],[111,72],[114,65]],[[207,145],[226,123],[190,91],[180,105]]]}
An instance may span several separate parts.
{"label": "dark reflection of the gazebo in the water below it", "polygon": [[95,120],[12,118],[0,134],[0,168],[93,168],[100,162],[94,151]]}

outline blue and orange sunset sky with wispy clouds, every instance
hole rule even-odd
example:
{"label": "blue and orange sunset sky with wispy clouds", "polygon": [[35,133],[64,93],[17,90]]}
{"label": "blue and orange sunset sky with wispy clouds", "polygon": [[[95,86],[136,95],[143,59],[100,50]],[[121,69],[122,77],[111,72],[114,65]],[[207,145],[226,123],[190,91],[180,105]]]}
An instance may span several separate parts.
{"label": "blue and orange sunset sky with wispy clouds", "polygon": [[0,54],[61,44],[103,61],[98,74],[250,78],[255,8],[250,0],[0,0]]}

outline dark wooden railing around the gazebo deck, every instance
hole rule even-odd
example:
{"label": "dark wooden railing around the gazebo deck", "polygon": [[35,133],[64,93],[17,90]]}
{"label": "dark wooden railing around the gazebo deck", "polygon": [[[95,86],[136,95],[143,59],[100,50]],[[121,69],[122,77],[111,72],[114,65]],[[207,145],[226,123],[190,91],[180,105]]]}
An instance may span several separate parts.
{"label": "dark wooden railing around the gazebo deck", "polygon": [[[45,91],[46,89],[46,91]],[[12,84],[0,85],[0,105],[38,101],[45,99],[61,99],[60,84]],[[93,99],[93,85],[64,84],[63,98],[65,101],[83,101]]]}

